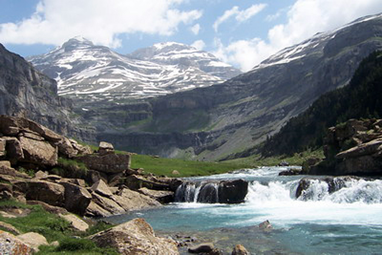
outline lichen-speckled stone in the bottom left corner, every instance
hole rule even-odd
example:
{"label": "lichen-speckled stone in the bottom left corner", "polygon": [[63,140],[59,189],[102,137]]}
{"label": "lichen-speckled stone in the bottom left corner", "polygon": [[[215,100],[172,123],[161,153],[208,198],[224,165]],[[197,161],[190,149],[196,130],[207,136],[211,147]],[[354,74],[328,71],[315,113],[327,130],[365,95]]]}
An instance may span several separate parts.
{"label": "lichen-speckled stone in the bottom left corner", "polygon": [[30,255],[32,248],[11,233],[0,230],[0,254]]}

